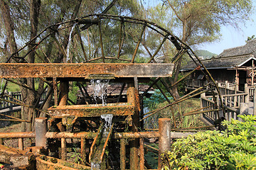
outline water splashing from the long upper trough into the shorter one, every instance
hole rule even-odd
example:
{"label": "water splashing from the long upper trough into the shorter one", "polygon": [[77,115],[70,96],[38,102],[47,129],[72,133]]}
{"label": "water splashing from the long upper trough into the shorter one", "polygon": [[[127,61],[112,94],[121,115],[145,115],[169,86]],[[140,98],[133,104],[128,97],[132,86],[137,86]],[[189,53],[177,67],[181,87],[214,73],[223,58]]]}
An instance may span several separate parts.
{"label": "water splashing from the long upper trough into the shorter one", "polygon": [[92,79],[90,81],[92,84],[92,88],[94,89],[93,98],[97,101],[97,98],[102,100],[102,106],[107,106],[107,102],[105,101],[107,96],[107,86],[109,84],[109,80],[95,80]]}

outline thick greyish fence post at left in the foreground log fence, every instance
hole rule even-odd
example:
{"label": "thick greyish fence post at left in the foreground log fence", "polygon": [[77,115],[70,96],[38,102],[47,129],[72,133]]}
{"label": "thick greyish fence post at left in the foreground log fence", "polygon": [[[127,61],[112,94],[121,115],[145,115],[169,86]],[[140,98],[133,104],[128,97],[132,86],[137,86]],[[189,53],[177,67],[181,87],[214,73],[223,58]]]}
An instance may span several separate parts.
{"label": "thick greyish fence post at left in the foreground log fence", "polygon": [[47,118],[36,118],[36,147],[47,147]]}

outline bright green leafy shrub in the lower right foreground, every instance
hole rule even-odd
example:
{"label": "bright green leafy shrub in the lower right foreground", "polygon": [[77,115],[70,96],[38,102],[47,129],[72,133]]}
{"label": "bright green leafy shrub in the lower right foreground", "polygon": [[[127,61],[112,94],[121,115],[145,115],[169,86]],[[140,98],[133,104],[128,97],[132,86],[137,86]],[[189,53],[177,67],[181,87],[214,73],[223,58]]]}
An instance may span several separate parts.
{"label": "bright green leafy shrub in the lower right foreground", "polygon": [[198,132],[174,142],[162,154],[165,169],[255,169],[256,116],[225,120],[225,132]]}

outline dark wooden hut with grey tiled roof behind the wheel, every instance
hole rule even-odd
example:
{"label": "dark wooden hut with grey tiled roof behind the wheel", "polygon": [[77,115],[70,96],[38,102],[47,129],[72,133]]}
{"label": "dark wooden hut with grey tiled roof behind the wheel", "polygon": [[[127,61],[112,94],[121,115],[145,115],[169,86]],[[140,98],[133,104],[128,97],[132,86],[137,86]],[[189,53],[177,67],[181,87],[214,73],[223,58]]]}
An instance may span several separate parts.
{"label": "dark wooden hut with grey tiled roof behind the wheel", "polygon": [[[247,41],[246,45],[224,50],[217,57],[202,60],[202,63],[215,81],[228,81],[229,83],[238,84],[239,90],[243,91],[245,84],[249,86],[256,84],[255,60],[256,40],[250,40]],[[181,69],[181,72],[190,72],[196,67],[195,63],[189,62]],[[189,77],[188,82],[193,81],[201,81],[201,84],[203,84],[206,79],[202,72],[197,71]]]}

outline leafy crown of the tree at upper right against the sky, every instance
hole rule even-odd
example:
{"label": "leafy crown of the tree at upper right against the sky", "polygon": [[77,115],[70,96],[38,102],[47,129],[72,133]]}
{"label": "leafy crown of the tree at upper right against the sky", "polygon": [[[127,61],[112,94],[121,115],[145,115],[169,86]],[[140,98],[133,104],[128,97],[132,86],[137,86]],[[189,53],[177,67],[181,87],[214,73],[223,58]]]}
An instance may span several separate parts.
{"label": "leafy crown of the tree at upper right against the sky", "polygon": [[252,13],[251,0],[168,0],[175,13],[174,29],[189,45],[213,42],[220,38],[220,26],[245,23]]}

